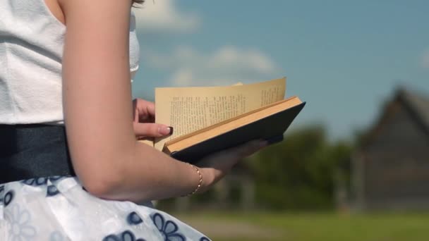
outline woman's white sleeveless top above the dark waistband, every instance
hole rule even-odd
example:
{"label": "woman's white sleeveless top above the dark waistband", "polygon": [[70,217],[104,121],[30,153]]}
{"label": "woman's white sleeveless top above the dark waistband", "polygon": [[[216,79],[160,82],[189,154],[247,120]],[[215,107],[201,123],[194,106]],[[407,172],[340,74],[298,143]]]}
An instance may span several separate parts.
{"label": "woman's white sleeveless top above the dark waistband", "polygon": [[[61,60],[66,26],[44,0],[0,1],[0,124],[64,123]],[[131,76],[139,46],[131,13]]]}

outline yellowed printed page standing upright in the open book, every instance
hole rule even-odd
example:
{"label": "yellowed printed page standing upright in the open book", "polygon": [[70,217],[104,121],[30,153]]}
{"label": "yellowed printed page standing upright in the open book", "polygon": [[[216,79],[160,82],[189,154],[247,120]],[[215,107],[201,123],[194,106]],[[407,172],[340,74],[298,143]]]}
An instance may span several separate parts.
{"label": "yellowed printed page standing upright in the open book", "polygon": [[155,122],[174,128],[173,135],[155,140],[155,148],[181,135],[200,130],[284,99],[286,78],[227,87],[155,89]]}

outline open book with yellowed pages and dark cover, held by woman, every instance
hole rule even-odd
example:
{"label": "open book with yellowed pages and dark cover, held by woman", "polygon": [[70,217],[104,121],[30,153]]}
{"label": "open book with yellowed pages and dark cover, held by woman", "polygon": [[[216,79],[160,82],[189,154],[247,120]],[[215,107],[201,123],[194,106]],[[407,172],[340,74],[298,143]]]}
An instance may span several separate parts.
{"label": "open book with yellowed pages and dark cover, held by woman", "polygon": [[181,161],[193,162],[250,140],[283,140],[305,102],[284,99],[286,78],[226,87],[155,89],[155,122],[170,125],[169,137],[144,140]]}

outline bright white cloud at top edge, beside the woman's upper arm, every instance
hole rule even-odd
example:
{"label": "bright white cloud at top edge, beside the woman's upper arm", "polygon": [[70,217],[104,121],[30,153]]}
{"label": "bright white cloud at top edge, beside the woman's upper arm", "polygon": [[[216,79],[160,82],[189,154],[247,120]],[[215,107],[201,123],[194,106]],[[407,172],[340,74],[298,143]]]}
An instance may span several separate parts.
{"label": "bright white cloud at top edge, beside the woman's upper arm", "polygon": [[201,22],[196,13],[179,11],[175,0],[147,0],[133,11],[139,30],[192,32]]}

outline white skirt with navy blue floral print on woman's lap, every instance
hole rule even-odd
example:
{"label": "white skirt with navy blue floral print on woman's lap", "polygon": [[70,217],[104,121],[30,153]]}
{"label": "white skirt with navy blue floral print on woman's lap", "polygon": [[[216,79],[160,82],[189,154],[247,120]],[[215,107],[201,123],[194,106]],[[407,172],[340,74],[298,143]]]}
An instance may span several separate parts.
{"label": "white skirt with navy blue floral print on woman's lap", "polygon": [[209,240],[152,203],[92,196],[73,177],[0,185],[0,240]]}

